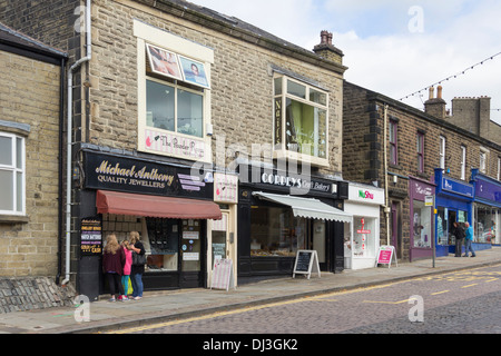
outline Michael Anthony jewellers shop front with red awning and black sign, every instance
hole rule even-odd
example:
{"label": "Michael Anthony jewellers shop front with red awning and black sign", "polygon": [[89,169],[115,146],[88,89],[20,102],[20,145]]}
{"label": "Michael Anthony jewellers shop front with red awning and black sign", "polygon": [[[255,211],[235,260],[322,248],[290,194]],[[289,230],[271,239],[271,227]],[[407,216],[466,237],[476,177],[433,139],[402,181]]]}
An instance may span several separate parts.
{"label": "Michael Anthony jewellers shop front with red awning and black sign", "polygon": [[130,231],[140,234],[146,249],[145,290],[207,286],[210,225],[223,217],[210,172],[198,177],[189,167],[86,150],[84,165],[79,290],[104,293],[106,236],[114,233],[121,241]]}

